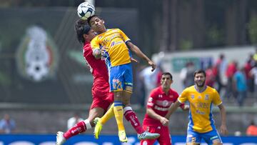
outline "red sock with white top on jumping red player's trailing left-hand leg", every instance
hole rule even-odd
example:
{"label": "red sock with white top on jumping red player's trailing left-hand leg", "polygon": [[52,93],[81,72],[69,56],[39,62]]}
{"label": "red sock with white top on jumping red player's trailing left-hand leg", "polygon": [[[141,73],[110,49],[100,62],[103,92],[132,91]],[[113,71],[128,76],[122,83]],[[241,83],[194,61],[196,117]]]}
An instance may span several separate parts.
{"label": "red sock with white top on jumping red player's trailing left-hand leg", "polygon": [[89,123],[89,120],[86,119],[84,121],[80,121],[78,124],[76,124],[74,127],[69,129],[64,133],[64,138],[67,140],[71,138],[72,136],[76,136],[77,134],[80,134],[86,129],[91,129],[91,124]]}

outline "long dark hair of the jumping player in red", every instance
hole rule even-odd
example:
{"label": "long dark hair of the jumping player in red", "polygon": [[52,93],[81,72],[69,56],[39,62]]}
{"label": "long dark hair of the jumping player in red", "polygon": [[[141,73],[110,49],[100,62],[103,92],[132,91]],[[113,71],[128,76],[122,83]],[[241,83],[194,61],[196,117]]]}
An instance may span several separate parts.
{"label": "long dark hair of the jumping player in red", "polygon": [[83,35],[89,34],[91,27],[89,26],[86,20],[79,19],[76,21],[74,28],[75,28],[76,36],[79,43],[84,44],[85,40]]}

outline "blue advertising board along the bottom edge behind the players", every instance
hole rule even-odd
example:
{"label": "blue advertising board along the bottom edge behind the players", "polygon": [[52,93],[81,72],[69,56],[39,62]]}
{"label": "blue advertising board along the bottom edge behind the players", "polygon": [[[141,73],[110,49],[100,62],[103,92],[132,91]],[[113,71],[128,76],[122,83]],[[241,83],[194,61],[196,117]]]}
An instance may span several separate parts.
{"label": "blue advertising board along the bottom edge behind the players", "polygon": [[[0,145],[55,145],[56,136],[51,135],[0,135]],[[224,145],[257,145],[257,136],[226,136],[221,137]],[[139,141],[136,136],[128,136],[127,145],[138,145]],[[171,136],[171,141],[173,145],[182,145],[186,144],[186,136]],[[89,135],[79,135],[74,136],[73,138],[66,141],[66,144],[75,144],[75,145],[119,145],[118,136],[106,135],[100,136],[98,140],[94,139],[94,136]],[[154,145],[157,145],[154,144]],[[206,145],[203,143],[203,145]]]}

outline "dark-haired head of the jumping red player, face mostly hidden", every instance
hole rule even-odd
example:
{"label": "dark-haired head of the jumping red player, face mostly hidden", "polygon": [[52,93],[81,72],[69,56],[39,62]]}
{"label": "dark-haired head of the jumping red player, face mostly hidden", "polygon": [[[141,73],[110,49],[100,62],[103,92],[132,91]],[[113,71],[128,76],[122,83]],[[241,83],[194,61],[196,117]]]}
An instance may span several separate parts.
{"label": "dark-haired head of the jumping red player, face mostly hidden", "polygon": [[78,41],[83,44],[86,41],[91,41],[96,36],[94,30],[92,30],[87,21],[83,19],[76,21],[75,31]]}

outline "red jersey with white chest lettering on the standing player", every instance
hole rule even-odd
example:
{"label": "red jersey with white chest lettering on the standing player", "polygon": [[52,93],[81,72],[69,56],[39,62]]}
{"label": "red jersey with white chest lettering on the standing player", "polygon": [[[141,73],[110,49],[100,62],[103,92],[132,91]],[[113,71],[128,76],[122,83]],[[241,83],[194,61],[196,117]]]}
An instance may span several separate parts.
{"label": "red jersey with white chest lettering on the standing player", "polygon": [[[178,93],[170,89],[168,95],[161,89],[161,86],[158,86],[156,89],[151,91],[151,94],[148,99],[147,108],[153,109],[156,114],[165,116],[168,113],[168,108],[178,99]],[[184,104],[181,104],[183,108]],[[161,122],[151,118],[148,114],[145,115],[143,119],[144,126],[162,126]]]}

